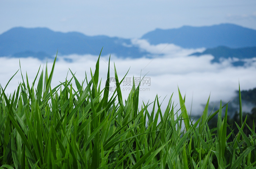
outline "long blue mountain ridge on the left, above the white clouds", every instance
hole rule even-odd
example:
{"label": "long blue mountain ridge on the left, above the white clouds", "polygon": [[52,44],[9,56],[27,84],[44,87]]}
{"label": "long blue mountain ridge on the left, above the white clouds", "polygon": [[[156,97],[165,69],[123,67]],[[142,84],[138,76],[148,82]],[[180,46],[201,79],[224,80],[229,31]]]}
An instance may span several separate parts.
{"label": "long blue mountain ridge on the left, above the white clouds", "polygon": [[130,39],[86,36],[78,32],[61,33],[48,28],[12,28],[0,35],[0,56],[49,57],[69,54],[116,54],[118,57],[142,57],[147,52],[132,46]]}

